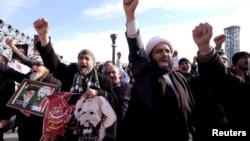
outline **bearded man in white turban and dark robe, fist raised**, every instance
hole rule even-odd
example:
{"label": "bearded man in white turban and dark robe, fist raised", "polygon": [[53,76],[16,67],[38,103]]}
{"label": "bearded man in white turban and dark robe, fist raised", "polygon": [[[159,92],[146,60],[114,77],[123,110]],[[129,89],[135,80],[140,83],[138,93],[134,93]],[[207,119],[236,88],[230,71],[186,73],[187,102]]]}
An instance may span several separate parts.
{"label": "bearded man in white turban and dark robe, fist raised", "polygon": [[155,36],[144,49],[135,18],[138,2],[123,0],[129,62],[135,79],[124,119],[124,140],[187,141],[192,132],[191,91],[185,77],[173,69],[174,50],[168,40]]}

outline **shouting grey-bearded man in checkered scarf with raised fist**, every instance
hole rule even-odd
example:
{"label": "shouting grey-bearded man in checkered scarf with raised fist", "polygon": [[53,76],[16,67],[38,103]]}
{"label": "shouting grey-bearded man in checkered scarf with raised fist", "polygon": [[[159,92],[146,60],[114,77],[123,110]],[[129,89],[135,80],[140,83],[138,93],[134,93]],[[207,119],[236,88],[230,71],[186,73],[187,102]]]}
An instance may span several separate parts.
{"label": "shouting grey-bearded man in checkered scarf with raised fist", "polygon": [[[93,98],[97,95],[105,97],[110,105],[115,109],[117,98],[113,91],[111,80],[104,74],[95,70],[95,56],[88,50],[83,49],[77,55],[77,63],[66,65],[62,63],[49,39],[49,22],[44,19],[37,19],[34,28],[38,33],[39,42],[36,47],[41,54],[45,66],[55,77],[62,81],[62,91],[81,94],[85,98]],[[73,134],[73,131],[66,133],[65,138],[73,141],[83,136],[83,134]],[[107,133],[105,138],[114,133]],[[104,139],[105,139],[104,138]],[[113,137],[110,137],[113,138]]]}

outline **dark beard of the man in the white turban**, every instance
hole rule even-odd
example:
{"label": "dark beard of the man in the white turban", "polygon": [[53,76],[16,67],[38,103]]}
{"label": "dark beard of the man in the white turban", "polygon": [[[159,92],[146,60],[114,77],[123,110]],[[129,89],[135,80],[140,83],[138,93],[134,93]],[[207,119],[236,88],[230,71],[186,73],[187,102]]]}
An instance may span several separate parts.
{"label": "dark beard of the man in the white turban", "polygon": [[169,62],[168,67],[160,68],[157,61],[152,60],[152,67],[156,74],[163,75],[169,73],[173,69],[173,62]]}

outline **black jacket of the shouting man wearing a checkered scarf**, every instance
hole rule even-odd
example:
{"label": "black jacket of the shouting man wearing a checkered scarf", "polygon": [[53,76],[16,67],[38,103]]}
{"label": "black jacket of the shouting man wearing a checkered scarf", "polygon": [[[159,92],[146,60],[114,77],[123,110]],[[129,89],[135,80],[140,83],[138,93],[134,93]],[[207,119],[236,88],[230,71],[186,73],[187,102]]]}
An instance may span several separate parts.
{"label": "black jacket of the shouting man wearing a checkered scarf", "polygon": [[[61,91],[70,92],[73,79],[75,74],[78,72],[77,63],[70,63],[69,65],[66,65],[65,63],[62,63],[56,53],[54,52],[54,49],[52,48],[52,44],[49,43],[47,46],[42,47],[41,43],[38,42],[36,44],[36,47],[43,59],[43,62],[47,68],[52,72],[53,76],[61,80],[62,82],[62,88]],[[117,108],[117,97],[115,95],[115,92],[113,90],[113,84],[111,79],[109,79],[107,76],[105,76],[102,73],[97,73],[97,77],[100,84],[100,89],[98,90],[98,94],[105,97],[107,101],[110,103],[110,105],[113,107],[113,109],[116,111]],[[107,131],[107,134],[105,138],[108,138],[108,134],[110,133],[110,136],[114,133],[114,127],[110,127],[110,132]],[[73,131],[66,132],[67,136],[69,136],[69,140],[75,140],[77,139],[77,136],[72,136]],[[108,133],[109,132],[109,133]],[[112,132],[112,133],[111,133]],[[74,139],[73,139],[74,138]],[[113,138],[114,137],[110,137]],[[104,139],[105,140],[105,139]],[[112,139],[111,139],[112,140]]]}

